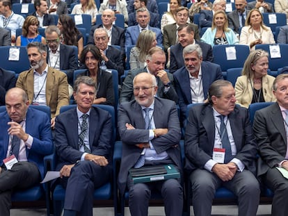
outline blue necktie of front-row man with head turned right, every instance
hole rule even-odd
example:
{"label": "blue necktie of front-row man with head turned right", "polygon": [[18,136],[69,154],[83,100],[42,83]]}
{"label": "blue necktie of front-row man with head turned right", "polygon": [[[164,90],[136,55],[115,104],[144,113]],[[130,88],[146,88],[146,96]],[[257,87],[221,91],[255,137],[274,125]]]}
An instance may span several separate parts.
{"label": "blue necktie of front-row man with head turned right", "polygon": [[230,162],[232,160],[232,151],[231,151],[231,144],[228,138],[228,133],[227,133],[227,128],[224,123],[224,115],[218,115],[221,119],[221,124],[220,124],[220,136],[221,136],[221,142],[222,142],[222,147],[225,149],[225,159],[224,163]]}

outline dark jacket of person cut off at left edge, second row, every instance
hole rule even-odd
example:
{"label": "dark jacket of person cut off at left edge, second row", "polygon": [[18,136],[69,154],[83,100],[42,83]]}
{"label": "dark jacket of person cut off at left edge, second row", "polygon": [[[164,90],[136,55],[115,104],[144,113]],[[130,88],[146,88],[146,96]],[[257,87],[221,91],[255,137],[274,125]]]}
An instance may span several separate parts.
{"label": "dark jacket of person cut off at left edge, second row", "polygon": [[0,106],[5,106],[5,94],[10,88],[14,88],[17,78],[15,74],[0,68]]}

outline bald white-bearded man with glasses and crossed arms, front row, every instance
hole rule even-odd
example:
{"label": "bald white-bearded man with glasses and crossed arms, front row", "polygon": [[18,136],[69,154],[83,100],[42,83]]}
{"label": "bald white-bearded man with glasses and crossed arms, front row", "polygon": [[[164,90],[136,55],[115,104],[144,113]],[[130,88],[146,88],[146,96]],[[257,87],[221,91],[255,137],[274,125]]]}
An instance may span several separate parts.
{"label": "bald white-bearded man with glasses and crossed arms, front row", "polygon": [[[120,104],[118,130],[122,140],[119,172],[120,194],[129,190],[131,215],[148,215],[152,189],[161,192],[166,215],[182,215],[182,177],[149,183],[133,183],[129,169],[173,164],[182,174],[179,141],[181,131],[173,101],[154,97],[157,81],[141,73],[133,81],[134,101]],[[145,99],[143,96],[145,95]]]}

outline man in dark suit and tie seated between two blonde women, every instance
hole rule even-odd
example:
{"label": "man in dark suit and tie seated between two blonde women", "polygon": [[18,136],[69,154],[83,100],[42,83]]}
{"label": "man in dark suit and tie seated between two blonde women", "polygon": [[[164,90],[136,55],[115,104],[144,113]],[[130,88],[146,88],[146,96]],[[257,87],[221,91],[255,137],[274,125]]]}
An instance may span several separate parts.
{"label": "man in dark suit and tie seated between two blonde women", "polygon": [[235,0],[235,10],[227,14],[229,28],[234,33],[240,34],[240,29],[245,26],[246,17],[250,10],[246,10],[246,0]]}

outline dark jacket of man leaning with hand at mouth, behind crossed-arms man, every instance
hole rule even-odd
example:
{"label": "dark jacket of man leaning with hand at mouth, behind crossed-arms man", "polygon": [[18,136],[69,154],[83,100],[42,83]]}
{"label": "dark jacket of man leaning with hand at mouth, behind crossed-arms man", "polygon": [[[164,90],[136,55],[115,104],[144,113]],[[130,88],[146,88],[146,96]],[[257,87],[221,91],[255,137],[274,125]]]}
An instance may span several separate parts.
{"label": "dark jacket of man leaning with hand at mouth, behind crossed-arms man", "polygon": [[[133,80],[137,74],[140,74],[142,72],[147,72],[147,67],[140,68],[140,69],[133,69],[133,70],[129,71],[128,75],[125,78],[125,81],[122,83],[122,90],[120,93],[119,103],[134,100]],[[157,96],[164,98],[164,99],[170,99],[172,101],[175,101],[175,103],[177,103],[178,96],[177,96],[177,93],[176,93],[175,87],[174,87],[173,75],[170,73],[167,73],[167,75],[168,75],[168,78],[171,82],[171,85],[170,85],[170,89],[166,93],[164,92],[165,87],[164,87],[163,82],[161,81],[161,79],[159,77],[156,77],[157,83],[158,83]]]}

